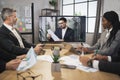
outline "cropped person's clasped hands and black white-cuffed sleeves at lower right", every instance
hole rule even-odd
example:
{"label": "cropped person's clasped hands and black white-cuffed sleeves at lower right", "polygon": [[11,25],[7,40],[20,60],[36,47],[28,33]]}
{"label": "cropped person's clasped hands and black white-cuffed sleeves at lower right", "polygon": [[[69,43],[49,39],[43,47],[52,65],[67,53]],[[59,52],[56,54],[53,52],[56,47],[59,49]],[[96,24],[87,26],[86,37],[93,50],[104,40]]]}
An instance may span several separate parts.
{"label": "cropped person's clasped hands and black white-cuffed sleeves at lower right", "polygon": [[120,56],[110,57],[97,54],[94,57],[92,56],[91,59],[86,56],[80,56],[80,62],[84,66],[120,75]]}

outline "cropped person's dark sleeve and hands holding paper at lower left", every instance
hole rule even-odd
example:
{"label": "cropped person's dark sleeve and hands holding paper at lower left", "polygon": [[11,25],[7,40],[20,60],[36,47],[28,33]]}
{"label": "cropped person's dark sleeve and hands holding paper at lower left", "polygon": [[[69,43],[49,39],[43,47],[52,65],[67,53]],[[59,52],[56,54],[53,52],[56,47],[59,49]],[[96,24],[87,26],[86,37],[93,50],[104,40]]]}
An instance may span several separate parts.
{"label": "cropped person's dark sleeve and hands holding paper at lower left", "polygon": [[16,56],[0,48],[0,73],[4,70],[15,70],[25,55]]}

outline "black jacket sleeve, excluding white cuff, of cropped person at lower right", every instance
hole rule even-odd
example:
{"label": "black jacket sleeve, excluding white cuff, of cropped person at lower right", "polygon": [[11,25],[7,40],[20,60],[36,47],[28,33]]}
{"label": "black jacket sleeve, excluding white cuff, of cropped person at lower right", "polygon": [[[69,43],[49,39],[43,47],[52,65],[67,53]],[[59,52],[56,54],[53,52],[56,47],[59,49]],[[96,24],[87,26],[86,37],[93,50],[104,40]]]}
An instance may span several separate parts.
{"label": "black jacket sleeve, excluding white cuff, of cropped person at lower right", "polygon": [[101,71],[115,73],[120,75],[120,56],[112,57],[112,62],[99,62],[99,69]]}

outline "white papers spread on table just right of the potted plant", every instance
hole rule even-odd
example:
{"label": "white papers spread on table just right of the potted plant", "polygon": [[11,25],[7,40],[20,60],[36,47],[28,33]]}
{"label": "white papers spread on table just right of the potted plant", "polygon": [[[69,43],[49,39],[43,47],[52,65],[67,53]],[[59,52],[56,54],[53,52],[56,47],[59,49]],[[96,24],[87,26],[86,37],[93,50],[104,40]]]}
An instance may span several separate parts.
{"label": "white papers spread on table just right of the potted plant", "polygon": [[85,72],[98,71],[97,69],[83,66],[82,63],[79,61],[79,56],[77,55],[64,56],[61,57],[60,60],[64,61],[63,64],[76,66],[77,69],[83,70]]}

